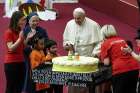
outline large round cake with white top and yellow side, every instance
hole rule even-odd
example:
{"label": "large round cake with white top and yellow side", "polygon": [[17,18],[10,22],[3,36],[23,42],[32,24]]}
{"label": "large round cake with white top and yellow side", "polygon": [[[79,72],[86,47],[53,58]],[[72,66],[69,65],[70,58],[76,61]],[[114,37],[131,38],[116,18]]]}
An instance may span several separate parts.
{"label": "large round cake with white top and yellow side", "polygon": [[87,73],[98,70],[99,59],[93,57],[80,56],[79,59],[69,60],[68,56],[56,57],[52,59],[53,71]]}

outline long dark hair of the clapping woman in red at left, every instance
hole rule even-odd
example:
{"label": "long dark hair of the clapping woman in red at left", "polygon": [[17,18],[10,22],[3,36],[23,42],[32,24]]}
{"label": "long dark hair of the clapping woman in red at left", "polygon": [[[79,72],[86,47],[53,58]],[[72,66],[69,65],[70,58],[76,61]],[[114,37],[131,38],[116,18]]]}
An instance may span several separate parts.
{"label": "long dark hair of the clapping woman in red at left", "polygon": [[15,11],[12,14],[12,17],[10,19],[10,24],[9,24],[9,28],[12,31],[18,31],[18,30],[21,29],[21,28],[18,27],[18,22],[19,22],[19,19],[22,18],[23,16],[24,16],[24,14],[21,11]]}

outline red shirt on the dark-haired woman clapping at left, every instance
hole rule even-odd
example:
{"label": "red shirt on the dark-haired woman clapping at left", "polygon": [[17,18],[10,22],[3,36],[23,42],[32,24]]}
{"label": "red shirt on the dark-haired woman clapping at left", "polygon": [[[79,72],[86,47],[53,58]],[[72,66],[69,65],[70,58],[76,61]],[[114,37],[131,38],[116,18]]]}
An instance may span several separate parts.
{"label": "red shirt on the dark-haired woman clapping at left", "polygon": [[16,42],[16,40],[19,37],[19,33],[15,33],[14,31],[11,31],[10,29],[6,30],[5,32],[5,63],[12,63],[12,62],[23,62],[24,56],[23,56],[23,49],[24,49],[24,43],[21,42],[20,45],[17,47],[15,51],[9,51],[7,47],[7,42]]}

